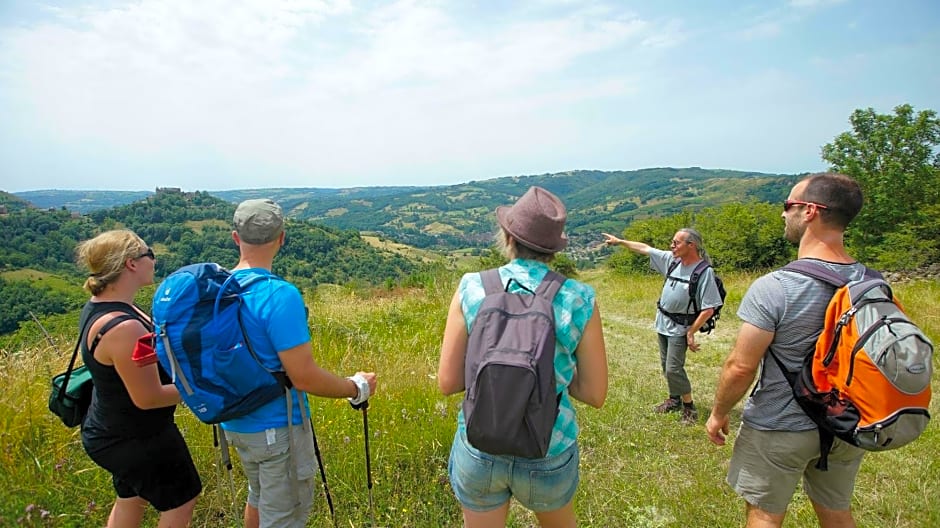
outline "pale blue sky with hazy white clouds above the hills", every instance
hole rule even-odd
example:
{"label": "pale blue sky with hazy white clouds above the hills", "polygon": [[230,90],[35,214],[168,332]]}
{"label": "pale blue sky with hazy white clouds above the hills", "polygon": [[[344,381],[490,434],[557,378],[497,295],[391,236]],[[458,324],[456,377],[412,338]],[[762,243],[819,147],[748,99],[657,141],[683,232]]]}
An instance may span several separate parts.
{"label": "pale blue sky with hazy white clouds above the hills", "polygon": [[932,0],[2,0],[0,190],[816,171],[937,57]]}

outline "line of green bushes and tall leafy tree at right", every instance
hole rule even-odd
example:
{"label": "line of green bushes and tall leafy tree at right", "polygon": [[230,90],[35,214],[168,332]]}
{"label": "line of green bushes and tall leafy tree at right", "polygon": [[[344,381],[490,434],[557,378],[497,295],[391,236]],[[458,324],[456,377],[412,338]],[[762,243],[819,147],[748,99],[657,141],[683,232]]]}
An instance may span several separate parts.
{"label": "line of green bushes and tall leafy tree at right", "polygon": [[[933,110],[915,112],[907,104],[893,114],[856,110],[852,130],[822,147],[829,170],[854,177],[864,206],[846,231],[846,246],[859,261],[879,270],[912,270],[940,260],[940,120]],[[668,247],[682,227],[694,227],[716,266],[766,270],[795,258],[783,239],[779,196],[769,204],[750,201],[700,211],[634,221],[623,236]],[[614,254],[615,269],[646,270],[648,260],[629,252]]]}

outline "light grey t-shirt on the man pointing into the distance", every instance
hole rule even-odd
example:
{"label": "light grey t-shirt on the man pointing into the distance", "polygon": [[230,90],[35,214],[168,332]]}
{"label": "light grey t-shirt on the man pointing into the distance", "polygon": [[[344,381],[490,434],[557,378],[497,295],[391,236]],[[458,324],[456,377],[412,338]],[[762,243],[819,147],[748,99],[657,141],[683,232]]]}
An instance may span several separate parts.
{"label": "light grey t-shirt on the man pointing into the distance", "polygon": [[[671,251],[661,249],[650,249],[649,257],[650,267],[658,271],[663,277],[669,271],[669,264],[675,260]],[[669,277],[666,277],[666,281],[663,283],[663,292],[659,295],[659,304],[664,310],[670,313],[694,313],[692,306],[689,305],[688,281],[697,264],[698,261],[689,265],[679,264],[676,269],[672,270]],[[685,282],[682,282],[683,280]],[[706,268],[702,272],[702,276],[699,277],[697,301],[702,310],[721,305],[721,295],[718,293],[718,284],[715,283],[715,271],[711,267]],[[663,315],[659,310],[656,310],[654,325],[657,333],[666,336],[685,335],[689,329],[688,326],[676,324],[675,321]]]}

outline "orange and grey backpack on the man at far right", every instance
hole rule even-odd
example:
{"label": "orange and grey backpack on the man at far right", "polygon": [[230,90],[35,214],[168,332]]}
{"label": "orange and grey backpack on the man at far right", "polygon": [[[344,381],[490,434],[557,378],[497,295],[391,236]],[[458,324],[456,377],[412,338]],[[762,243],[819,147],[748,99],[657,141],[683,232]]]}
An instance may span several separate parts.
{"label": "orange and grey backpack on the man at far right", "polygon": [[816,348],[799,372],[788,372],[773,351],[797,403],[819,428],[820,460],[834,438],[868,451],[904,446],[927,427],[933,344],[905,315],[891,286],[866,269],[846,281],[811,260],[784,268],[833,286]]}

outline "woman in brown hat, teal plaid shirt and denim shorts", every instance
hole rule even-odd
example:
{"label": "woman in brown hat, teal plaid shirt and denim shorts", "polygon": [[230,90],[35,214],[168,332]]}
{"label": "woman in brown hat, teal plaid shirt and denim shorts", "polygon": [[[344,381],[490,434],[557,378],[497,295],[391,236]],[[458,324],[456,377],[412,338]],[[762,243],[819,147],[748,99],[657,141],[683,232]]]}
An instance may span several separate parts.
{"label": "woman in brown hat, teal plaid shirt and denim shorts", "polygon": [[[563,250],[565,206],[554,194],[532,187],[513,206],[496,209],[497,242],[509,263],[498,269],[509,291],[533,292]],[[438,384],[444,394],[463,391],[470,329],[485,297],[481,275],[468,273],[454,294],[444,329]],[[577,525],[573,497],[578,486],[578,424],[571,398],[600,408],[607,398],[607,353],[594,289],[564,280],[552,301],[558,414],[546,455],[522,458],[481,451],[467,440],[464,413],[457,417],[448,470],[463,508],[464,526],[505,526],[515,497],[543,527]]]}

